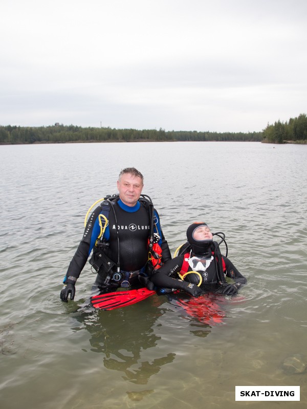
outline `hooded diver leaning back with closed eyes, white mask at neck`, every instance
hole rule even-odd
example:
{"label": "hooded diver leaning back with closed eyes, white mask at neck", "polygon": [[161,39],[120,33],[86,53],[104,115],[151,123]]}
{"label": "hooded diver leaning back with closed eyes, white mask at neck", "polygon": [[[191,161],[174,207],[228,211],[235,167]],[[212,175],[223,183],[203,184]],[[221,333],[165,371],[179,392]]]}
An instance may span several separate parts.
{"label": "hooded diver leaning back with closed eyes, white mask at neck", "polygon": [[[180,255],[165,263],[151,276],[150,281],[155,286],[181,289],[198,296],[205,290],[234,295],[246,284],[246,278],[213,242],[213,235],[206,223],[191,224],[187,230],[187,239]],[[233,283],[227,283],[225,276],[232,279]]]}

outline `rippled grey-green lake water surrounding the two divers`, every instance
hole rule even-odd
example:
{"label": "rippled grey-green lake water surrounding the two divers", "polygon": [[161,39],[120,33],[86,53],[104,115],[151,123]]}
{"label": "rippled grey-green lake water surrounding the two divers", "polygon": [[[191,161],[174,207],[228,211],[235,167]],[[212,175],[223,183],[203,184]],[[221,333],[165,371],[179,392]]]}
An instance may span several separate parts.
{"label": "rippled grey-green lake water surrounding the two divers", "polygon": [[[0,158],[2,409],[306,407],[306,145],[18,145]],[[60,301],[87,209],[130,166],[172,254],[195,220],[225,233],[248,279],[238,297],[199,319],[156,295],[93,311],[87,263]],[[236,402],[235,385],[300,385],[300,402]]]}

